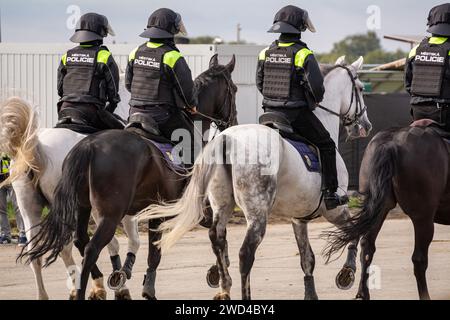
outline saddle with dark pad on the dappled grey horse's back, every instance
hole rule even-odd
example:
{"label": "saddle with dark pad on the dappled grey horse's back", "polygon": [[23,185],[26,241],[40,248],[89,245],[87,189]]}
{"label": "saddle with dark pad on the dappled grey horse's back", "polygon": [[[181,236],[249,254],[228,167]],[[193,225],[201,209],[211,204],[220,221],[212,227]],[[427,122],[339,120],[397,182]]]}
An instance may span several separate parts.
{"label": "saddle with dark pad on the dappled grey horse's back", "polygon": [[321,172],[319,148],[297,134],[283,113],[266,112],[259,117],[259,123],[278,130],[280,135],[297,150],[308,171]]}

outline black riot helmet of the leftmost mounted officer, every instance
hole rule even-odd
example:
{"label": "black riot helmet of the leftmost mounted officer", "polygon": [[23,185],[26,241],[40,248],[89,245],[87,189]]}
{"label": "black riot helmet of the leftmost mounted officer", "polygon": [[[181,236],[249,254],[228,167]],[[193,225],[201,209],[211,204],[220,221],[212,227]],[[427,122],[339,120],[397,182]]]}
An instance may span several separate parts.
{"label": "black riot helmet of the leftmost mounted officer", "polygon": [[83,14],[77,22],[75,34],[70,41],[75,43],[102,40],[108,34],[114,36],[114,31],[109,25],[108,19],[98,13]]}

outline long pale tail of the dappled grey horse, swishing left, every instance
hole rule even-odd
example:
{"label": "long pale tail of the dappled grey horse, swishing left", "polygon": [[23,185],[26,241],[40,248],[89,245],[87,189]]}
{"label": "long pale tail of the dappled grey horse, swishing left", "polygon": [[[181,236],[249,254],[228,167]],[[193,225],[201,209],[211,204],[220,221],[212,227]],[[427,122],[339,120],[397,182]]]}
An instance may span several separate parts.
{"label": "long pale tail of the dappled grey horse, swishing left", "polygon": [[[159,231],[163,233],[157,242],[162,251],[170,249],[184,234],[196,227],[204,218],[206,191],[208,182],[219,165],[215,159],[216,151],[224,150],[221,135],[210,142],[197,158],[191,172],[191,180],[183,196],[177,202],[150,205],[143,209],[139,220],[174,217],[161,224]],[[224,151],[222,151],[224,152]],[[222,154],[222,152],[220,152]]]}

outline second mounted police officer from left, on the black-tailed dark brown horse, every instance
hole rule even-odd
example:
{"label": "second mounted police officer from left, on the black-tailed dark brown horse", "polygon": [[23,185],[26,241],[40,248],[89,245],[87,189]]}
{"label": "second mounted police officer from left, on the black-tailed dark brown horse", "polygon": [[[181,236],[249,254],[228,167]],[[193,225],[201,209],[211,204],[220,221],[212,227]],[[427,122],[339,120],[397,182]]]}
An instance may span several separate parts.
{"label": "second mounted police officer from left, on the black-tailed dark brown horse", "polygon": [[130,53],[125,78],[131,92],[129,122],[150,116],[169,140],[179,128],[193,136],[193,125],[182,109],[193,113],[197,104],[191,70],[174,42],[178,33],[186,33],[180,14],[166,8],[153,12],[140,34],[149,41]]}

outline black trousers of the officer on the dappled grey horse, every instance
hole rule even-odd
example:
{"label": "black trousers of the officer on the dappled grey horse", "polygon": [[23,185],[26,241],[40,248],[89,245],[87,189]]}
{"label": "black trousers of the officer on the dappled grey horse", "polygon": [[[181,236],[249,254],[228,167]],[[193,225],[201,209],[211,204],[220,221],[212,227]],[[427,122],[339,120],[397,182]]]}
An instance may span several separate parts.
{"label": "black trousers of the officer on the dappled grey horse", "polygon": [[322,162],[323,187],[336,192],[338,179],[336,171],[336,145],[322,122],[308,108],[298,109],[265,108],[266,111],[283,113],[290,121],[294,131],[316,145],[320,150]]}

